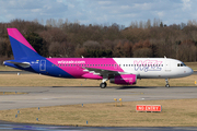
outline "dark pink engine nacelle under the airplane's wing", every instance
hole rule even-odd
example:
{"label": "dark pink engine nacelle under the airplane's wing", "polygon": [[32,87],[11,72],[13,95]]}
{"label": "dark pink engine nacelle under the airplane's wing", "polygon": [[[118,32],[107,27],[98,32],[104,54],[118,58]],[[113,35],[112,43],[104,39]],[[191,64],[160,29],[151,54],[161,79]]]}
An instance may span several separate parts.
{"label": "dark pink engine nacelle under the airplane's wing", "polygon": [[111,83],[132,85],[137,83],[137,76],[136,74],[121,74],[111,79]]}

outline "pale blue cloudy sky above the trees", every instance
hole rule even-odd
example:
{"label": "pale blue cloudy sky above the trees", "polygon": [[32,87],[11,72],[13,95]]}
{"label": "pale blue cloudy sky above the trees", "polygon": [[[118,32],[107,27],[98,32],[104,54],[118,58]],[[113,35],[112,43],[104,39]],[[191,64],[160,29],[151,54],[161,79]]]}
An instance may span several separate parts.
{"label": "pale blue cloudy sky above the trees", "polygon": [[129,26],[160,19],[164,24],[197,19],[197,0],[0,0],[0,22],[62,19],[80,24]]}

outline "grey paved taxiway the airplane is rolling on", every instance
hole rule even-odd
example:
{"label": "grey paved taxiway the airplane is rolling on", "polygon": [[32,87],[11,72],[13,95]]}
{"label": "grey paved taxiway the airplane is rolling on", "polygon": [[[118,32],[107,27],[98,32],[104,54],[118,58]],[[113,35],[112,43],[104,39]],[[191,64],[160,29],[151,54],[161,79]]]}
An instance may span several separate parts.
{"label": "grey paved taxiway the airplane is rolling on", "polygon": [[197,98],[197,87],[0,87],[0,92],[24,92],[21,95],[0,95],[0,110],[74,105],[113,103],[114,98],[123,102]]}

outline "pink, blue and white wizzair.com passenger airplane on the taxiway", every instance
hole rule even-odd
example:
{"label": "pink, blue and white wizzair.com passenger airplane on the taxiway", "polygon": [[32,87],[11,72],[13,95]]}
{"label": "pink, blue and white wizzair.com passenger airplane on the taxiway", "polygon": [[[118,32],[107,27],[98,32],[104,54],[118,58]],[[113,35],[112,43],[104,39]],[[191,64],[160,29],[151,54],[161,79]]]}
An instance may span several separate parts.
{"label": "pink, blue and white wizzair.com passenger airplane on the taxiway", "polygon": [[193,74],[184,62],[171,58],[45,58],[39,56],[16,28],[7,28],[14,60],[7,60],[4,66],[66,79],[102,80],[119,85],[134,85],[137,79],[169,79]]}

